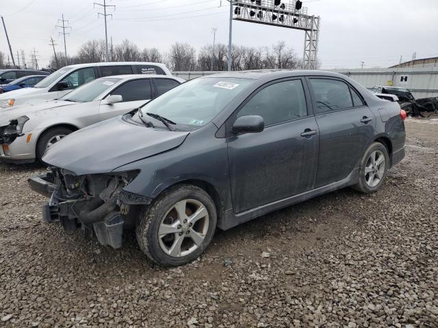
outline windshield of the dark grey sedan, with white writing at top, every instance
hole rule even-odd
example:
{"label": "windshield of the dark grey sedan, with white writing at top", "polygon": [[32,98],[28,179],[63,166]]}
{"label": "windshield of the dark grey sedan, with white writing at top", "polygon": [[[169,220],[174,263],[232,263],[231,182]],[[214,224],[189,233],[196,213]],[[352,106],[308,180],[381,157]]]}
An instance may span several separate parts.
{"label": "windshield of the dark grey sedan, with white writing at top", "polygon": [[149,102],[142,113],[158,114],[177,124],[203,126],[252,82],[224,77],[194,79]]}

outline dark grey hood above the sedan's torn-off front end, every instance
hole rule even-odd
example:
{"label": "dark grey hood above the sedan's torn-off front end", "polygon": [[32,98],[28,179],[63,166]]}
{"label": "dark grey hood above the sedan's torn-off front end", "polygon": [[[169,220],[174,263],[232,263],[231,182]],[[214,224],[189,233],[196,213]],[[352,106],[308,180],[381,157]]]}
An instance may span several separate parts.
{"label": "dark grey hood above the sedan's torn-off front end", "polygon": [[185,131],[158,130],[112,118],[64,137],[47,150],[42,161],[77,175],[107,173],[176,148],[188,135]]}

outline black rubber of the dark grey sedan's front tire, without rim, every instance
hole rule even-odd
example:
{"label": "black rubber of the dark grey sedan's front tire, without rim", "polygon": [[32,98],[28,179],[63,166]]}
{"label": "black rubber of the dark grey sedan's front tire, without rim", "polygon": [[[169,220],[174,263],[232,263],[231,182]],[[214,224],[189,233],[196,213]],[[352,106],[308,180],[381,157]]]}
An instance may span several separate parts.
{"label": "black rubber of the dark grey sedan's front tire, without rim", "polygon": [[[168,214],[169,210],[172,210],[173,206],[182,200],[196,200],[205,206],[208,213],[207,232],[205,233],[201,245],[197,246],[197,248],[190,254],[185,256],[170,256],[162,249],[158,232],[162,221],[170,215],[170,213]],[[165,215],[166,217],[164,217]],[[203,254],[216,231],[216,223],[216,206],[208,193],[191,184],[180,184],[164,191],[162,195],[157,197],[157,200],[155,200],[150,206],[145,206],[142,210],[136,226],[138,245],[149,260],[152,260],[156,264],[163,267],[177,267],[181,264],[191,262]],[[176,233],[169,235],[171,238],[178,238]],[[190,237],[190,234],[188,237]],[[189,239],[189,241],[190,240],[191,239]]]}

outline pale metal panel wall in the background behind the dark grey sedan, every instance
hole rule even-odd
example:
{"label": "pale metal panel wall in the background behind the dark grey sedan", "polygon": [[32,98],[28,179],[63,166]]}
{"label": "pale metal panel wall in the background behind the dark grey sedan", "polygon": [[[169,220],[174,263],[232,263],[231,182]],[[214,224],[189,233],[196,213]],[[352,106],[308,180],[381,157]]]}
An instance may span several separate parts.
{"label": "pale metal panel wall in the background behind the dark grey sedan", "polygon": [[[415,98],[438,96],[438,67],[432,68],[368,68],[358,70],[329,70],[345,74],[364,87],[374,85],[394,85],[407,87]],[[220,72],[172,72],[176,77],[186,80],[196,79]],[[390,82],[391,81],[391,82]]]}

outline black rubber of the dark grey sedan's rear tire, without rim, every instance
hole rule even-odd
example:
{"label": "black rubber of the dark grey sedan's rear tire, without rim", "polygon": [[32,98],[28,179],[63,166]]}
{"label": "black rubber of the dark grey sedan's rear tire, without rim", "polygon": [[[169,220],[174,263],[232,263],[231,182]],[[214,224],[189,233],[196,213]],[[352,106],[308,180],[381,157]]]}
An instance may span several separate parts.
{"label": "black rubber of the dark grey sedan's rear tire, without rim", "polygon": [[[376,184],[375,186],[370,186],[365,178],[365,166],[367,165],[368,159],[370,159],[371,154],[376,151],[381,152],[385,157],[385,171],[383,172],[383,176],[380,178],[378,184]],[[357,184],[352,185],[352,189],[355,189],[356,191],[359,191],[361,193],[374,193],[375,191],[378,191],[378,189],[381,188],[383,181],[385,181],[388,169],[389,155],[387,148],[380,142],[373,142],[370,147],[368,147],[368,149],[365,151],[365,154],[363,154],[361,166],[359,167],[359,181],[357,182]]]}

